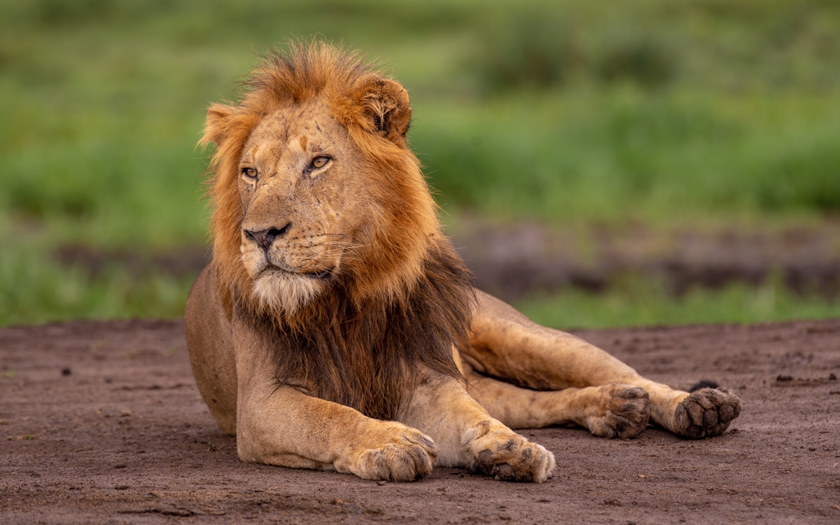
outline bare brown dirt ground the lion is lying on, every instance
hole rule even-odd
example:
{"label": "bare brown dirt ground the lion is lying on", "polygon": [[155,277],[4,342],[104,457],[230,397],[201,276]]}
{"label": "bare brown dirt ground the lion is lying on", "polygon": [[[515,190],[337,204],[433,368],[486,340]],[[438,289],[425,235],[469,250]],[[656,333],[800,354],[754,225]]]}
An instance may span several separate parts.
{"label": "bare brown dirt ground the lion is lying on", "polygon": [[731,386],[719,438],[525,431],[542,485],[457,469],[413,483],[245,465],[176,321],[0,329],[0,522],[840,522],[840,320],[579,332],[649,377]]}

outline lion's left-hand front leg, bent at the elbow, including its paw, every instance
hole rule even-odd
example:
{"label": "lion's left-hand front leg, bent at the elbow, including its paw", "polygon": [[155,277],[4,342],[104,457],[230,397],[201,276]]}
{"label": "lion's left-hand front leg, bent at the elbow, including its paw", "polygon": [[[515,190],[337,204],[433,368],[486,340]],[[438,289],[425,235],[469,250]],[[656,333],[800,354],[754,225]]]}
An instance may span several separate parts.
{"label": "lion's left-hand front leg, bent at the elbow, including its paw", "polygon": [[234,323],[238,400],[236,445],[250,463],[338,470],[369,480],[410,481],[432,471],[438,447],[403,423],[278,386],[267,354]]}

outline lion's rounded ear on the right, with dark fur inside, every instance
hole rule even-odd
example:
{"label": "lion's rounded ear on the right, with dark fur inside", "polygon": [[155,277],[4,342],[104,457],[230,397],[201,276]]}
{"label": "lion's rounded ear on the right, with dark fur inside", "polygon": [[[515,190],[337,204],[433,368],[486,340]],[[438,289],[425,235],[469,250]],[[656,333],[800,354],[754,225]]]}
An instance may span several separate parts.
{"label": "lion's rounded ear on the right, with dark fur inside", "polygon": [[365,117],[375,133],[400,147],[406,147],[406,134],[412,120],[408,92],[398,82],[376,78],[368,85],[363,105]]}

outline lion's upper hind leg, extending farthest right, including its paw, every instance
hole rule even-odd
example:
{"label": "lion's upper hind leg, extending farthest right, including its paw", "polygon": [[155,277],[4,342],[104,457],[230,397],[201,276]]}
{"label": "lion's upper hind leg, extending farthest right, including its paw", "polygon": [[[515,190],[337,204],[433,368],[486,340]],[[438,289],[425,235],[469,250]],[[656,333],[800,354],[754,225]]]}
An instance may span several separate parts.
{"label": "lion's upper hind leg, extending farthest right, including its paw", "polygon": [[[554,403],[559,404],[556,410],[563,410],[562,403],[569,401],[562,397],[562,392],[570,395],[569,387],[585,391],[592,387],[609,389],[613,385],[632,385],[648,393],[651,423],[692,439],[722,434],[741,412],[741,401],[732,391],[704,386],[685,392],[650,381],[582,339],[541,327],[486,293],[476,291],[476,296],[479,307],[470,335],[472,348],[464,361],[469,363],[470,371],[483,376],[504,378],[533,391],[560,392],[547,392],[544,396],[541,392],[540,397],[552,401],[540,401],[540,407]],[[497,396],[482,396],[480,391],[471,393],[482,397],[481,404],[494,413],[489,405]],[[558,396],[560,401],[555,402],[554,398]],[[518,397],[528,399],[528,396]],[[501,412],[502,408],[496,411]],[[517,410],[515,404],[512,410]],[[546,409],[554,413],[552,410]],[[503,417],[499,418],[504,421]],[[585,426],[591,429],[589,425]]]}

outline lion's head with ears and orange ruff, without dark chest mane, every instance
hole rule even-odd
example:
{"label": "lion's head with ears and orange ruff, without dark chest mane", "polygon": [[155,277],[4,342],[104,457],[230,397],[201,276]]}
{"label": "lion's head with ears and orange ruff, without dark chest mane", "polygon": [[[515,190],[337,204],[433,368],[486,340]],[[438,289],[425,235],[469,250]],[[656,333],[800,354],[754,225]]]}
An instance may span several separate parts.
{"label": "lion's head with ears and orange ruff, without dark chest mane", "polygon": [[357,300],[404,293],[439,237],[407,148],[406,90],[324,44],[272,55],[238,104],[213,104],[214,260],[290,316],[336,281]]}

